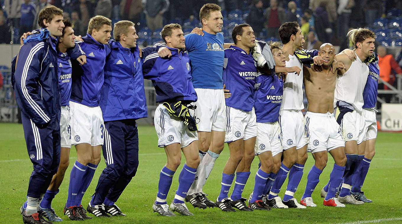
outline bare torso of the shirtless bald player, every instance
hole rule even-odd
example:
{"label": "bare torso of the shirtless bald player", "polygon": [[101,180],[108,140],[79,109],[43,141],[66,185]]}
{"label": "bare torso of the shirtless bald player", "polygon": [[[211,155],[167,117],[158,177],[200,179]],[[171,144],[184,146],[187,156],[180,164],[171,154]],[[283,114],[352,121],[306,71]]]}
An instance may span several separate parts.
{"label": "bare torso of the shirtless bald player", "polygon": [[308,101],[307,111],[313,113],[333,113],[336,73],[333,74],[330,69],[314,71],[312,68],[306,66],[303,67],[303,73],[304,87]]}

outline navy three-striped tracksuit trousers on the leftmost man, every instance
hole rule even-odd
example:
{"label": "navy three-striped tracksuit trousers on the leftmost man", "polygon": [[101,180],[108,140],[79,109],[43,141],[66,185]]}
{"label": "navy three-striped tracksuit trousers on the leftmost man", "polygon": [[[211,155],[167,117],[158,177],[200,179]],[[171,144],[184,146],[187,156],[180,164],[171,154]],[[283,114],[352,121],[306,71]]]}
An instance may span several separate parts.
{"label": "navy three-striped tracksuit trousers on the leftmost man", "polygon": [[60,127],[39,128],[29,117],[21,113],[28,155],[33,163],[27,196],[39,198],[49,187],[60,162]]}

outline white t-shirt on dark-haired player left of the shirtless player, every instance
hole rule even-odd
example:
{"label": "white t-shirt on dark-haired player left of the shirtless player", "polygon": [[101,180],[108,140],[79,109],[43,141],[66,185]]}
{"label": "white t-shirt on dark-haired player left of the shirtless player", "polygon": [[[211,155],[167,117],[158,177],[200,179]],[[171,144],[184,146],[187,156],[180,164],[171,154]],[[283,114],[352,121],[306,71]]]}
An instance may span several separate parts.
{"label": "white t-shirt on dark-haired player left of the shirtless player", "polygon": [[[297,66],[301,69],[300,74],[287,73],[285,83],[283,83],[283,99],[280,110],[302,110],[303,104],[303,65],[293,54],[289,54],[289,61],[286,67]],[[366,77],[367,78],[367,77]]]}

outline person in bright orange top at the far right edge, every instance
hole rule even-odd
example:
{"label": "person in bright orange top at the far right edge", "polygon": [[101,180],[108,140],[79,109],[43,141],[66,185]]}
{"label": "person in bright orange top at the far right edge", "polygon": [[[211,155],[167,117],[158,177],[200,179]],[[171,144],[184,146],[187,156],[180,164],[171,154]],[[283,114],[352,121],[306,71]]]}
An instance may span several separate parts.
{"label": "person in bright orange top at the far right edge", "polygon": [[[398,75],[402,75],[402,69],[396,63],[392,54],[387,54],[387,49],[384,46],[377,47],[378,53],[378,66],[379,66],[379,77],[391,85],[394,85],[395,76],[394,72]],[[378,83],[378,89],[390,89],[383,83]],[[390,103],[390,94],[381,94],[387,103]]]}

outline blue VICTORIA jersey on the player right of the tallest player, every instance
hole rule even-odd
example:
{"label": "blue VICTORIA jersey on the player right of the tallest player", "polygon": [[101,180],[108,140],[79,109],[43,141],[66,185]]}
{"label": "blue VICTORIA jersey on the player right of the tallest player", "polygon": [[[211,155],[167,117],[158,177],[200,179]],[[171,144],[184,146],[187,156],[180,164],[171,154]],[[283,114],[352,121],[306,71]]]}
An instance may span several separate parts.
{"label": "blue VICTORIA jersey on the player right of the tallest player", "polygon": [[252,54],[237,46],[225,49],[223,80],[232,96],[225,99],[226,106],[251,111],[254,105],[254,84],[257,74]]}

